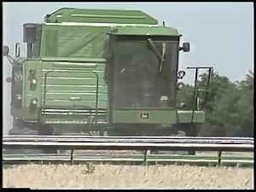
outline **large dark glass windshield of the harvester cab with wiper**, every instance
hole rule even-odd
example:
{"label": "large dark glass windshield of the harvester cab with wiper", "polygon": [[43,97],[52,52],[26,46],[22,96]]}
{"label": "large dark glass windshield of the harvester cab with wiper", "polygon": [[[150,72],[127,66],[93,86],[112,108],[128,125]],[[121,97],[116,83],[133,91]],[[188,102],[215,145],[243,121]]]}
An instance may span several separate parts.
{"label": "large dark glass windshield of the harvester cab with wiper", "polygon": [[172,107],[176,69],[177,42],[119,41],[113,56],[113,107]]}

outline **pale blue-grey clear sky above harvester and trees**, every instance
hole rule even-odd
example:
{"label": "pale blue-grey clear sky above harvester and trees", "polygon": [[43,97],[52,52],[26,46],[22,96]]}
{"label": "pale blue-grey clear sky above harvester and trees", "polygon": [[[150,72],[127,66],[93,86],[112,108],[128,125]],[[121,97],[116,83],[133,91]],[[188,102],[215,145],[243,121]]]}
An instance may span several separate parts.
{"label": "pale blue-grey clear sky above harvester and trees", "polygon": [[[3,3],[3,44],[15,55],[20,43],[21,55],[24,23],[42,23],[44,16],[61,8],[140,9],[166,26],[178,29],[190,52],[179,55],[179,69],[186,72],[184,83],[193,83],[194,73],[186,67],[213,67],[230,81],[244,79],[253,70],[253,3]],[[3,123],[10,122],[10,64],[3,59]],[[6,124],[4,124],[6,125]]]}

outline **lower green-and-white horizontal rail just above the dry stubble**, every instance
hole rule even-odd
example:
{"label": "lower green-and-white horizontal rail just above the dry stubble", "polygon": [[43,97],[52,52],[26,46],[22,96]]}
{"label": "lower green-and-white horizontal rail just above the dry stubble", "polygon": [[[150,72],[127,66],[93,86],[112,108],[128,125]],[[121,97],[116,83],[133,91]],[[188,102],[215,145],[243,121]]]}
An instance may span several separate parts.
{"label": "lower green-and-white horizontal rail just above the dry stubble", "polygon": [[[81,163],[81,162],[115,162],[115,163],[194,163],[218,165],[218,156],[184,155],[184,154],[3,154],[4,164],[14,163]],[[145,162],[146,161],[146,162]],[[253,166],[253,157],[223,156],[220,165]]]}

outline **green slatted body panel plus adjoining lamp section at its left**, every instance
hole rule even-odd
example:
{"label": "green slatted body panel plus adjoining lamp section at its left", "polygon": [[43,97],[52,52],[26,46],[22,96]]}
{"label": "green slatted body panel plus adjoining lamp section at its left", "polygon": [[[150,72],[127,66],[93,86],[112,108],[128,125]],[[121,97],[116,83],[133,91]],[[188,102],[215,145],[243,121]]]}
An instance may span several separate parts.
{"label": "green slatted body panel plus adjoining lamp section at its left", "polygon": [[[37,84],[31,89],[31,70]],[[84,120],[90,115],[106,121],[108,89],[104,81],[105,60],[26,61],[23,67],[23,119]],[[35,108],[32,101],[36,99]],[[41,116],[42,115],[42,116]],[[83,123],[83,122],[80,122]]]}

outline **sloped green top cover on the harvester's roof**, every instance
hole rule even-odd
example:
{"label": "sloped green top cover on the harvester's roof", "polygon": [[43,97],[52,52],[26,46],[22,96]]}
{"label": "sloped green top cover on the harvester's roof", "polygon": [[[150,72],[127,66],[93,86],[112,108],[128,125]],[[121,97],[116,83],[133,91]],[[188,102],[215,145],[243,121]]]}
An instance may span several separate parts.
{"label": "sloped green top cover on the harvester's roof", "polygon": [[151,24],[157,20],[140,10],[118,9],[58,9],[50,14],[47,22]]}

